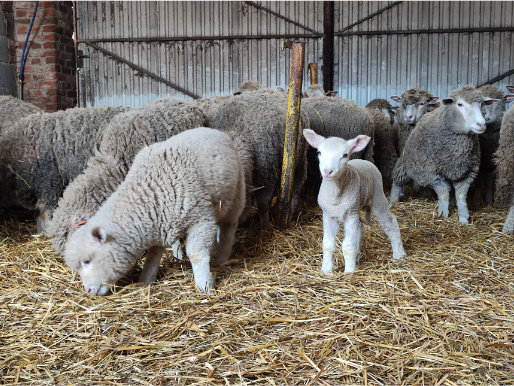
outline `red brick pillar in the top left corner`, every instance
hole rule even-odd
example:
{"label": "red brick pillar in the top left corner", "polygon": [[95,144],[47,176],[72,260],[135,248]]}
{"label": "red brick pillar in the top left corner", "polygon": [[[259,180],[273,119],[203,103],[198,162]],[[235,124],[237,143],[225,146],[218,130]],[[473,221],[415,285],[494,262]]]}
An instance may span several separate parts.
{"label": "red brick pillar in the top left corner", "polygon": [[[18,73],[36,2],[16,1],[12,4]],[[25,50],[23,100],[47,112],[77,105],[72,35],[72,2],[39,2]]]}

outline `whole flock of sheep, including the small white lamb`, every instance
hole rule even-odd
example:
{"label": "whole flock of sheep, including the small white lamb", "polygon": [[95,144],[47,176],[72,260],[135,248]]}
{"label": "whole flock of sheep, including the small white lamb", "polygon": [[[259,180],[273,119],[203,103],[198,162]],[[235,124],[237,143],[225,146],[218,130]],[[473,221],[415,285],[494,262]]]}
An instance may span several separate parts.
{"label": "whole flock of sheep, including the small white lamb", "polygon": [[[453,187],[461,223],[469,221],[468,190],[474,203],[507,206],[503,231],[514,231],[514,108],[505,111],[514,95],[486,85],[444,99],[421,89],[391,99],[398,111],[385,99],[363,108],[326,96],[319,85],[302,98],[291,213],[302,198],[318,197],[325,273],[340,223],[345,272],[355,270],[361,210],[368,223],[376,217],[393,257],[405,256],[389,206],[411,182],[414,192],[435,192],[444,217]],[[208,292],[211,255],[229,258],[252,208],[263,228],[276,210],[287,105],[283,91],[253,81],[234,95],[135,109],[43,113],[0,97],[0,205],[37,211],[38,231],[90,294],[107,294],[145,251],[140,280],[155,280],[167,247],[187,255]]]}

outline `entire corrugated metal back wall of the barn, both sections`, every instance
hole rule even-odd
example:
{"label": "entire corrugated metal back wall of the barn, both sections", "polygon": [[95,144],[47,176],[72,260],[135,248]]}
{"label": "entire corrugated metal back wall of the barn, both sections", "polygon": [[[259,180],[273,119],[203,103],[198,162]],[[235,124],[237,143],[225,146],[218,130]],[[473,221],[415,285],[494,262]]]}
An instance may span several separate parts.
{"label": "entire corrugated metal back wall of the barn, both sections", "polygon": [[[323,2],[116,1],[75,6],[79,41],[96,39],[93,44],[118,56],[78,44],[86,56],[79,71],[81,106],[138,106],[168,95],[192,99],[120,60],[190,95],[233,93],[248,79],[287,88],[290,51],[281,50],[279,35],[305,35],[305,63],[317,62],[322,80]],[[514,2],[336,2],[334,89],[364,106],[411,87],[445,97],[458,86],[482,84],[513,68],[513,14]],[[511,30],[446,32],[495,27]],[[426,29],[445,31],[412,32]],[[116,39],[124,41],[112,41]],[[304,88],[308,79],[306,70]],[[514,76],[495,84],[504,89],[514,84]]]}

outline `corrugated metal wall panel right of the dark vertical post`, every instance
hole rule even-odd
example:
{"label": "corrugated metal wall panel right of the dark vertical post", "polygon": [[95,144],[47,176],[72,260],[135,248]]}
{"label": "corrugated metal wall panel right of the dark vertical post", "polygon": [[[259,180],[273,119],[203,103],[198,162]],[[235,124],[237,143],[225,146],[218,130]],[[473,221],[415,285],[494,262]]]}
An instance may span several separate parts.
{"label": "corrugated metal wall panel right of the dark vertical post", "polygon": [[[395,3],[399,4],[362,21]],[[352,1],[335,5],[336,35],[362,21],[346,31],[353,34],[336,36],[334,44],[338,95],[362,106],[412,87],[446,97],[457,87],[478,86],[514,68],[512,31],[451,32],[512,29],[514,2]],[[448,32],[407,32],[427,29]],[[358,34],[368,31],[384,33]],[[514,84],[514,75],[494,84],[506,91],[505,85]]]}

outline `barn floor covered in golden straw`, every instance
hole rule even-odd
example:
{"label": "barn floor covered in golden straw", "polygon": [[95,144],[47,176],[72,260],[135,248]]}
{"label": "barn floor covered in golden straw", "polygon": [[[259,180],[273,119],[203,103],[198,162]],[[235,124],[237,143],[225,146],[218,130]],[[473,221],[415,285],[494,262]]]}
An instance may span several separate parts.
{"label": "barn floor covered in golden straw", "polygon": [[[304,205],[286,232],[238,232],[212,295],[188,262],[166,259],[158,282],[91,297],[35,234],[1,213],[2,384],[505,385],[514,383],[514,237],[506,210],[472,224],[411,199],[397,215],[408,259],[393,262],[365,227],[353,275],[321,267],[321,211]],[[342,236],[342,234],[340,234]],[[136,269],[137,270],[137,269]]]}

